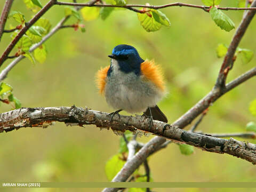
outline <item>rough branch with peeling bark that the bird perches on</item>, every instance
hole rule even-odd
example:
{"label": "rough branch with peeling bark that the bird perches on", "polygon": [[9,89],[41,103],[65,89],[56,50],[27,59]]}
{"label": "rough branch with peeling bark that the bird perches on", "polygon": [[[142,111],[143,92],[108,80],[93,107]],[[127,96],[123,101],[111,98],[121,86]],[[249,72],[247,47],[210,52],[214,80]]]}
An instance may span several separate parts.
{"label": "rough branch with peeling bark that the bird perches on", "polygon": [[[20,127],[44,127],[51,125],[52,122],[64,122],[66,125],[90,125],[98,127],[111,127],[116,134],[122,134],[125,130],[137,132],[139,134],[153,133],[162,138],[173,142],[186,143],[188,145],[201,148],[214,153],[227,153],[245,159],[256,164],[256,145],[236,141],[234,139],[220,139],[207,135],[191,133],[178,126],[169,125],[163,122],[154,121],[153,126],[149,127],[149,118],[137,116],[118,116],[110,122],[108,113],[83,109],[81,107],[46,107],[46,108],[21,108],[7,113],[0,114],[0,131],[12,131]],[[166,126],[167,125],[167,126]],[[163,139],[162,143],[164,143]],[[148,142],[146,154],[150,155],[157,149],[155,141]],[[140,155],[142,151],[135,155],[135,158],[145,158],[148,156]],[[137,164],[134,164],[137,166]],[[125,167],[124,167],[125,168]],[[130,173],[127,173],[130,175]],[[118,177],[117,177],[118,178]],[[119,181],[119,180],[117,180]]]}

